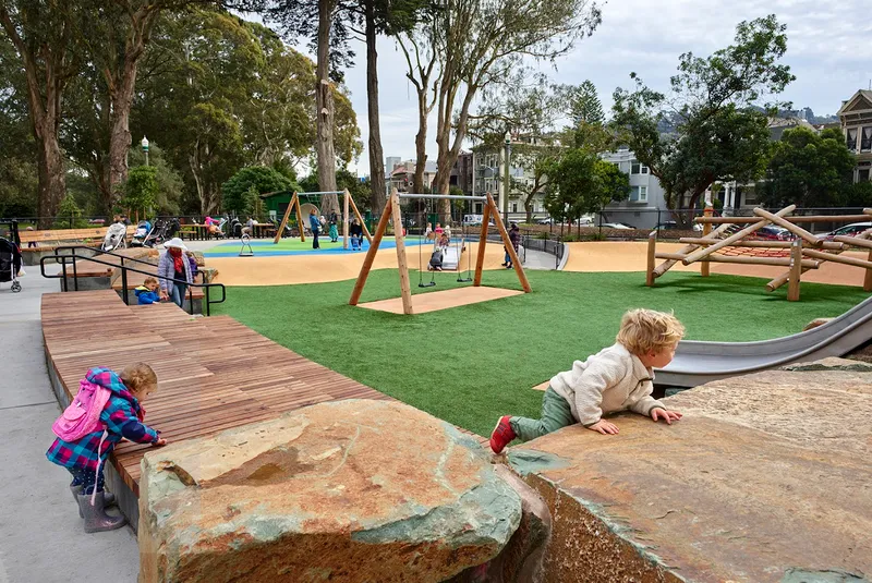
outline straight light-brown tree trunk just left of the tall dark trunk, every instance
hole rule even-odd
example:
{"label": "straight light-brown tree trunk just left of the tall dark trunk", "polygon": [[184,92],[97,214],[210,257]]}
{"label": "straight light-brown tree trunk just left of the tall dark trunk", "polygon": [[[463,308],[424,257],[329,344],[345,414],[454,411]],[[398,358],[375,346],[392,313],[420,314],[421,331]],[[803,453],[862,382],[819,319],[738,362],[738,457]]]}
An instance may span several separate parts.
{"label": "straight light-brown tree trunk just left of the tall dark trunk", "polygon": [[[315,107],[317,131],[315,149],[318,157],[318,186],[322,191],[336,190],[336,150],[334,149],[334,93],[329,80],[330,26],[336,0],[318,0],[318,63],[315,81]],[[339,212],[339,197],[335,194],[322,196],[320,211],[325,216]]]}

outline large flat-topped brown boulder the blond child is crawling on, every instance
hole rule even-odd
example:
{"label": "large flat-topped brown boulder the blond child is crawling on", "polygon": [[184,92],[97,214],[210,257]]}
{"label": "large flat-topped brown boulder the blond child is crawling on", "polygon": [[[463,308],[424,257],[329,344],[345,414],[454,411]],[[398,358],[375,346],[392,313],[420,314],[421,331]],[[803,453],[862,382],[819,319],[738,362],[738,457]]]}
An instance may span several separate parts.
{"label": "large flat-topped brown boulder the blond child is crawling on", "polygon": [[872,373],[845,361],[665,399],[668,426],[512,448],[550,508],[545,580],[861,582],[872,573]]}

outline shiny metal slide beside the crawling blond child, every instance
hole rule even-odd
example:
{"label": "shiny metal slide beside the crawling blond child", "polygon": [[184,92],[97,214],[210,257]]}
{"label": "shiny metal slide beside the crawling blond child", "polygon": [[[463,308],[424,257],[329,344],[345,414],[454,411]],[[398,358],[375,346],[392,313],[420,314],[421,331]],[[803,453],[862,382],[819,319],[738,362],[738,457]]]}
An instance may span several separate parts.
{"label": "shiny metal slide beside the crawling blond child", "polygon": [[841,316],[813,328],[758,342],[700,342],[682,340],[675,359],[657,369],[655,384],[697,387],[736,375],[747,375],[785,364],[841,356],[872,339],[872,297]]}

